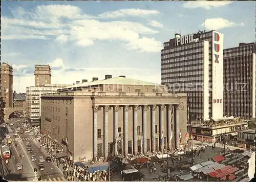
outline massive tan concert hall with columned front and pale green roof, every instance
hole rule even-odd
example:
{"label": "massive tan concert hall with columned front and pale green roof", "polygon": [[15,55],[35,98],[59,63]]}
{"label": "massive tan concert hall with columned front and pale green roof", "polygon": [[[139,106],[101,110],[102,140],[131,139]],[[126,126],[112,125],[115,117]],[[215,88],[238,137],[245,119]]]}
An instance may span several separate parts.
{"label": "massive tan concert hall with columned front and pale green roof", "polygon": [[179,148],[186,143],[186,101],[185,93],[125,76],[77,81],[41,95],[42,141],[75,161]]}

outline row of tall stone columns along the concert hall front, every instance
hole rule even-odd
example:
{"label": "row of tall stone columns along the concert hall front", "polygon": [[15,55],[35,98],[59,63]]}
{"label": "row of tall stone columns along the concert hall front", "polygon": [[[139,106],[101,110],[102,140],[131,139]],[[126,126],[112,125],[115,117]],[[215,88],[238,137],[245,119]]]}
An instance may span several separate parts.
{"label": "row of tall stone columns along the concert hall front", "polygon": [[[179,126],[179,105],[103,105],[103,106],[93,106],[93,158],[98,156],[98,108],[103,107],[104,108],[104,142],[103,142],[103,155],[104,157],[107,157],[109,155],[109,110],[110,107],[113,107],[114,109],[114,140],[118,138],[118,110],[119,107],[123,107],[124,112],[124,129],[123,129],[123,152],[124,154],[128,154],[128,122],[129,122],[129,116],[128,116],[128,110],[129,107],[133,107],[133,153],[136,154],[138,152],[138,134],[137,134],[137,126],[138,126],[138,107],[141,106],[142,108],[142,151],[145,153],[147,152],[147,139],[151,139],[151,149],[153,151],[156,151],[156,131],[155,131],[155,125],[156,125],[156,107],[159,107],[160,110],[160,131],[159,131],[159,139],[161,138],[162,133],[164,133],[164,108],[166,107],[167,113],[167,144],[168,149],[172,149],[174,146],[174,140],[170,140],[171,133],[173,132],[173,138],[175,139],[176,146],[179,144],[179,134],[180,134],[180,126]],[[148,107],[151,107],[151,134],[147,133],[147,109]],[[175,115],[175,121],[173,120],[173,116]],[[114,142],[111,141],[111,142]],[[153,142],[152,142],[153,140]],[[172,142],[173,141],[173,142]],[[171,146],[171,144],[173,146]],[[114,144],[114,152],[113,155],[117,154],[118,149],[118,143],[115,142]],[[164,149],[163,142],[159,145],[160,150]]]}

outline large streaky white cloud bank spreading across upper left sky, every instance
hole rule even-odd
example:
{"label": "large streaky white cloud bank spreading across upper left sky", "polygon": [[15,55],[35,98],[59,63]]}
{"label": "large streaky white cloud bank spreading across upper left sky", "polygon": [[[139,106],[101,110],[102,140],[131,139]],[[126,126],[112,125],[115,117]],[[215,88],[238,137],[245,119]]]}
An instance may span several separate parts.
{"label": "large streaky white cloud bank spreading across upper left sky", "polygon": [[[150,15],[159,12],[156,10],[122,9],[109,13],[114,17]],[[59,43],[74,42],[81,47],[93,45],[95,40],[119,40],[126,45],[132,45],[132,48],[126,46],[130,50],[134,50],[135,47],[138,51],[159,50],[158,41],[145,37],[147,34],[156,34],[158,31],[139,22],[93,19],[93,16],[83,14],[80,8],[75,6],[37,6],[28,11],[16,8],[12,10],[12,14],[14,18],[2,18],[2,39],[54,39]],[[62,22],[62,17],[67,20]],[[157,21],[152,21],[151,24],[154,27],[162,27]],[[148,44],[142,44],[142,41],[147,41]]]}

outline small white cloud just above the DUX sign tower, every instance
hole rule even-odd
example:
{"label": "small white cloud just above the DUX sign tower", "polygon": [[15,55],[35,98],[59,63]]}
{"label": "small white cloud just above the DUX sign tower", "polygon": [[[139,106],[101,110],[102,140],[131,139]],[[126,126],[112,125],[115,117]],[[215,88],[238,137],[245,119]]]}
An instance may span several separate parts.
{"label": "small white cloud just above the DUX sign tower", "polygon": [[227,27],[237,27],[237,26],[244,26],[244,23],[241,22],[239,24],[235,22],[231,22],[224,18],[208,18],[203,22],[200,26],[207,29],[213,29],[213,30],[220,30]]}

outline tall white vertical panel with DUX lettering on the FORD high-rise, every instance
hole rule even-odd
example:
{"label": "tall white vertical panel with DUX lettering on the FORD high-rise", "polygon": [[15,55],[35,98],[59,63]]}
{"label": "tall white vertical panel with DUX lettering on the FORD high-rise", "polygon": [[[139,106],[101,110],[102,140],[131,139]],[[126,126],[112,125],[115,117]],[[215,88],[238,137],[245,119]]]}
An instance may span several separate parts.
{"label": "tall white vertical panel with DUX lettering on the FORD high-rise", "polygon": [[212,118],[223,118],[223,34],[212,31]]}

